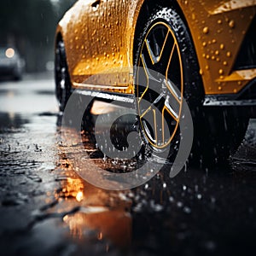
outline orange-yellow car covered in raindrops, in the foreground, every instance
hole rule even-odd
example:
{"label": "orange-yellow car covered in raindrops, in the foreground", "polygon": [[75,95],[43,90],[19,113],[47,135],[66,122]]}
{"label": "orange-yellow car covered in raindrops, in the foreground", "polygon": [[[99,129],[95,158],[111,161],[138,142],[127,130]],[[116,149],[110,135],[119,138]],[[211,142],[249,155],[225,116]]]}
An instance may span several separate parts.
{"label": "orange-yellow car covered in raindrops, in the foreground", "polygon": [[134,102],[143,140],[164,150],[178,133],[184,98],[194,158],[223,162],[255,113],[255,13],[255,0],[79,0],[55,34],[60,110],[73,90]]}

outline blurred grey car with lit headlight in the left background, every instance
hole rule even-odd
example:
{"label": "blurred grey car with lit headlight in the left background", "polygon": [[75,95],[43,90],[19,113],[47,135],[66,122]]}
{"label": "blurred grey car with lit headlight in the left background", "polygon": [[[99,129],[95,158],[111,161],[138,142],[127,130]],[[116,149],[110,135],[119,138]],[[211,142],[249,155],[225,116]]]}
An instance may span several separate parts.
{"label": "blurred grey car with lit headlight in the left background", "polygon": [[17,49],[0,46],[0,79],[22,79],[25,61],[20,57]]}

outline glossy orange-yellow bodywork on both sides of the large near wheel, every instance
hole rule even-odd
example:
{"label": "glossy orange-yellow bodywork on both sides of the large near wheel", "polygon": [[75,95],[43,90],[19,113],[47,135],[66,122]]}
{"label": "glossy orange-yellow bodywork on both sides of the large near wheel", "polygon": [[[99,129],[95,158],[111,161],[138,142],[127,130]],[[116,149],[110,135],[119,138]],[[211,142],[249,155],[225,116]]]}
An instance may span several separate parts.
{"label": "glossy orange-yellow bodywork on both sides of the large near wheel", "polygon": [[[144,0],[95,2],[79,0],[57,28],[66,45],[73,86],[134,93],[129,67],[133,66],[135,28]],[[253,70],[236,75],[232,69],[255,16],[256,0],[177,0],[177,3],[195,44],[206,94],[236,93],[256,77]],[[97,73],[108,75],[90,79]]]}

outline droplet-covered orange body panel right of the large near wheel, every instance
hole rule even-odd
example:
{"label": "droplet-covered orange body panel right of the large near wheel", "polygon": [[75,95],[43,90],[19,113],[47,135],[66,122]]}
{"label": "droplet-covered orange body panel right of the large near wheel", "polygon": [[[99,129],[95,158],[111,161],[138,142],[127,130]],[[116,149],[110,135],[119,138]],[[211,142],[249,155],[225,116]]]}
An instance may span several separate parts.
{"label": "droplet-covered orange body panel right of the large near wheel", "polygon": [[[232,94],[250,79],[233,79],[232,67],[255,16],[256,1],[179,1],[188,22],[206,94]],[[243,71],[251,73],[251,71]]]}

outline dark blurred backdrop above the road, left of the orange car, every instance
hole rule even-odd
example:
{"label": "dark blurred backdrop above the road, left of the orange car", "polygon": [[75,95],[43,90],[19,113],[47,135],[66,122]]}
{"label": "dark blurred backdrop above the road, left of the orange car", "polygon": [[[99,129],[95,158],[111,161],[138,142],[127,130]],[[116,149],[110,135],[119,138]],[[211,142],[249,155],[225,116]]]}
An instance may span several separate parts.
{"label": "dark blurred backdrop above the road, left of the orange car", "polygon": [[55,27],[75,0],[8,0],[1,2],[0,47],[14,48],[26,73],[54,68]]}

